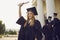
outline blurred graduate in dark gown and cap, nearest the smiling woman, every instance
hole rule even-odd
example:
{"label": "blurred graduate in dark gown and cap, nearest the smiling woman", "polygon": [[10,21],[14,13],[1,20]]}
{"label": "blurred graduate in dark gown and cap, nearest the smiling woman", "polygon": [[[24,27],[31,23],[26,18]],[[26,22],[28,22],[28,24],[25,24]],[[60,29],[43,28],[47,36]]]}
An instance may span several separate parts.
{"label": "blurred graduate in dark gown and cap, nearest the smiling woman", "polygon": [[52,17],[49,16],[45,22],[45,25],[43,26],[43,33],[45,35],[45,40],[53,40],[53,37],[52,37],[53,28],[52,28],[51,18]]}

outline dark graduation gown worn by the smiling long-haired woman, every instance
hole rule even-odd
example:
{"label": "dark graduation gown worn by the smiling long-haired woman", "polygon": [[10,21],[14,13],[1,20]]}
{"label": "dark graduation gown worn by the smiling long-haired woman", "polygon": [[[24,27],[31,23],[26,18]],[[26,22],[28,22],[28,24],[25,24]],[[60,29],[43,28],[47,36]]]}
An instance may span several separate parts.
{"label": "dark graduation gown worn by the smiling long-haired woman", "polygon": [[26,27],[24,27],[24,23],[26,20],[21,17],[18,19],[17,23],[21,25],[21,29],[19,31],[18,40],[35,40],[35,37],[38,40],[42,39],[41,33],[41,24],[38,20],[35,20],[34,26],[30,27],[29,23],[27,23]]}

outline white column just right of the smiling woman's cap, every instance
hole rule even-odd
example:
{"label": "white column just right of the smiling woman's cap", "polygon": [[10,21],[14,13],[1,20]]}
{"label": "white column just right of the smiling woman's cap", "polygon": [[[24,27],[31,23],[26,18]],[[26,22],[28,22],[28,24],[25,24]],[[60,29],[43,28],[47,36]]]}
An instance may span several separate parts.
{"label": "white column just right of the smiling woman's cap", "polygon": [[38,12],[38,20],[40,21],[43,27],[44,25],[43,0],[37,0],[37,12]]}

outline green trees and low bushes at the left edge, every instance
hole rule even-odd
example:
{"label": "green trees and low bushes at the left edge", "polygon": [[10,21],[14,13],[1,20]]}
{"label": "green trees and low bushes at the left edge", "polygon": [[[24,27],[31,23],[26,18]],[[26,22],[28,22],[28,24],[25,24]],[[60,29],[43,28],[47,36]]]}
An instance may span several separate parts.
{"label": "green trees and low bushes at the left edge", "polygon": [[15,35],[17,34],[17,32],[12,30],[5,31],[5,24],[2,24],[2,21],[0,20],[0,35],[3,35],[3,34]]}

